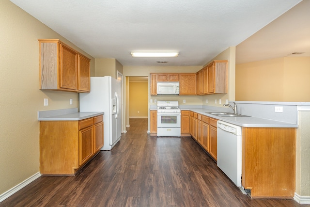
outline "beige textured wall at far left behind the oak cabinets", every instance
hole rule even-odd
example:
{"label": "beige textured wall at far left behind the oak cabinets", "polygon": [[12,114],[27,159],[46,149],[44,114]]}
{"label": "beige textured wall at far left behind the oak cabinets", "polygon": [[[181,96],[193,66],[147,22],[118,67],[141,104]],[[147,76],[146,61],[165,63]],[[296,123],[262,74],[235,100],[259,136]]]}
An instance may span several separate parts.
{"label": "beige textured wall at far left behind the oak cabinets", "polygon": [[[39,172],[37,111],[78,107],[78,94],[39,90],[38,39],[55,38],[91,58],[9,0],[0,0],[0,194]],[[48,106],[43,106],[48,98]],[[69,99],[73,98],[73,105]]]}

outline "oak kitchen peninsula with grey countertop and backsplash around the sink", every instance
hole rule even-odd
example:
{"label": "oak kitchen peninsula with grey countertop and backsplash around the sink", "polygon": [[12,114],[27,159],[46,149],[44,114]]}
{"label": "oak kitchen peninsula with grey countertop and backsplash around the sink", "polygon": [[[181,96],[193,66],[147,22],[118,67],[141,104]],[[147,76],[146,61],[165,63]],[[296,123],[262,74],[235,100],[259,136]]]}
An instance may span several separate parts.
{"label": "oak kitchen peninsula with grey countertop and backsplash around the sink", "polygon": [[[232,112],[230,108],[180,105],[190,136],[217,160],[217,127],[221,120],[242,127],[242,186],[252,198],[293,198],[298,103],[236,101],[247,117],[221,117],[210,112]],[[281,103],[283,104],[283,103]],[[154,110],[152,107],[150,110]],[[187,115],[188,116],[188,115]],[[215,122],[215,124],[214,124]],[[186,131],[181,129],[182,131]]]}

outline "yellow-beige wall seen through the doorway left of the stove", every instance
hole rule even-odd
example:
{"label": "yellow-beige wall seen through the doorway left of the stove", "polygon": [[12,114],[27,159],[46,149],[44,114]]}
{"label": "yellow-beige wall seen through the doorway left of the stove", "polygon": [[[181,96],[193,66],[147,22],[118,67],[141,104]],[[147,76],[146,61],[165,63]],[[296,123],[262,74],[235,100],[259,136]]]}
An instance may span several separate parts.
{"label": "yellow-beige wall seen through the doorway left of the stove", "polygon": [[129,82],[129,117],[148,117],[148,82]]}

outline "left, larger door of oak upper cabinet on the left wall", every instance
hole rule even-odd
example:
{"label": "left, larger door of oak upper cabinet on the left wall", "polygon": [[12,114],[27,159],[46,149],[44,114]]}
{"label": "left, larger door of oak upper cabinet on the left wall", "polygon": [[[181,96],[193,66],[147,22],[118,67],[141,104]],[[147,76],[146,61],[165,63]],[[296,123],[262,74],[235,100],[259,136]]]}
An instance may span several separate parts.
{"label": "left, larger door of oak upper cabinet on the left wall", "polygon": [[60,45],[60,88],[78,89],[78,54],[64,45]]}

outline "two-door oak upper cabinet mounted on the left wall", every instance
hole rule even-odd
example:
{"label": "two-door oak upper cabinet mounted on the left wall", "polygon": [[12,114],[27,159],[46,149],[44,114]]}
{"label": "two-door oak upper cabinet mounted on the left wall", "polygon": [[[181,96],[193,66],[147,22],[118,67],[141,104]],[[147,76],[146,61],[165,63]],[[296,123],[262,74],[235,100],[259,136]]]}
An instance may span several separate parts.
{"label": "two-door oak upper cabinet mounted on the left wall", "polygon": [[90,92],[90,59],[58,39],[39,39],[40,89]]}

